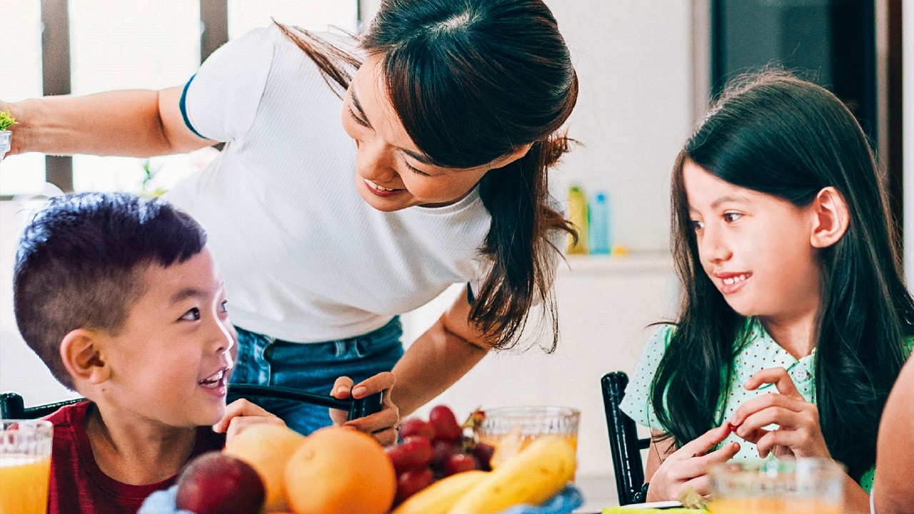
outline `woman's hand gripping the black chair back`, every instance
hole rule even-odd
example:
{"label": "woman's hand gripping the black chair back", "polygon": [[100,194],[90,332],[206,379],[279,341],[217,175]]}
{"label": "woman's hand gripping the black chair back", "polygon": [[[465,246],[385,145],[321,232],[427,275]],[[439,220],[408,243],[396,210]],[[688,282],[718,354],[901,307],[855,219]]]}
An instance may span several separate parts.
{"label": "woman's hand gripping the black chair back", "polygon": [[363,380],[353,385],[352,379],[340,377],[334,383],[331,394],[340,400],[347,398],[361,399],[377,391],[384,391],[384,407],[381,412],[375,412],[364,418],[346,421],[349,413],[336,409],[330,410],[330,418],[334,424],[351,426],[366,434],[371,434],[377,442],[387,446],[397,442],[397,424],[399,423],[399,409],[390,401],[390,389],[394,386],[394,374],[388,371],[378,373],[374,377]]}

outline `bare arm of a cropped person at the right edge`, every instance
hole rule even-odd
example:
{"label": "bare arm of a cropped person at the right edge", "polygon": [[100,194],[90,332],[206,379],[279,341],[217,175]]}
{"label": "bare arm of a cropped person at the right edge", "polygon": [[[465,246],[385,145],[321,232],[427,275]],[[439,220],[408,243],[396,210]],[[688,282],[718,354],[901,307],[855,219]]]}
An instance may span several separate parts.
{"label": "bare arm of a cropped person at the right edge", "polygon": [[901,369],[879,423],[873,501],[877,514],[911,511],[914,498],[914,359]]}

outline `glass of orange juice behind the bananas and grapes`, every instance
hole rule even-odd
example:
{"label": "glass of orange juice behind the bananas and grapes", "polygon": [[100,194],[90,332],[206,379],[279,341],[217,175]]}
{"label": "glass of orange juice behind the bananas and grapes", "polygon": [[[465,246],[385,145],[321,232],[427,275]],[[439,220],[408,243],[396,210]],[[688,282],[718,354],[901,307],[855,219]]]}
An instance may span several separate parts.
{"label": "glass of orange juice behind the bananas and grapes", "polygon": [[484,409],[476,434],[479,441],[495,448],[492,466],[516,455],[542,435],[561,435],[578,449],[580,411],[571,407],[526,405]]}

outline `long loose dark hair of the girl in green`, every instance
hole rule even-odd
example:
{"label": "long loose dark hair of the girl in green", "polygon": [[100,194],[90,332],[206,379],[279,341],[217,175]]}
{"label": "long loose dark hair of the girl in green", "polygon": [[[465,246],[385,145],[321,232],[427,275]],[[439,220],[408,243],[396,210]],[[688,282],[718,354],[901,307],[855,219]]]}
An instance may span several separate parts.
{"label": "long loose dark hair of the girl in green", "polygon": [[876,461],[879,418],[914,333],[885,187],[854,115],[834,95],[782,71],[732,83],[685,143],[673,170],[672,246],[679,319],[652,386],[679,446],[723,423],[717,407],[747,343],[737,314],[703,271],[682,168],[694,162],[738,187],[808,206],[823,187],[845,199],[844,237],[820,253],[822,306],[813,337],[815,402],[835,460],[859,479]]}

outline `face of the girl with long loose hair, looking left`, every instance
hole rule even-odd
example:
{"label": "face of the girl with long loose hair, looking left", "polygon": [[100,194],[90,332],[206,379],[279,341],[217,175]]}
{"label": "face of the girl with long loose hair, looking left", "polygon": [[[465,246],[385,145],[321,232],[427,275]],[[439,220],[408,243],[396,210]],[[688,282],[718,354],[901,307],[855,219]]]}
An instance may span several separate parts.
{"label": "face of the girl with long loose hair, looking left", "polygon": [[818,312],[815,215],[685,161],[685,196],[705,273],[742,316],[790,322]]}

